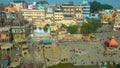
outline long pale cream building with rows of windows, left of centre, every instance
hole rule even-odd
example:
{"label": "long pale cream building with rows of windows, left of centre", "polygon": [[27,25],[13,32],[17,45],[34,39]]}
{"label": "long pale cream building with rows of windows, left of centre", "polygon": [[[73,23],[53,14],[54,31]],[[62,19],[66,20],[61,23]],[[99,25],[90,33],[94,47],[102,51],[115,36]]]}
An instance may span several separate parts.
{"label": "long pale cream building with rows of windows, left of centre", "polygon": [[25,19],[28,21],[33,21],[34,25],[37,27],[41,26],[41,21],[44,21],[45,19],[45,10],[37,10],[37,9],[21,9],[22,15]]}

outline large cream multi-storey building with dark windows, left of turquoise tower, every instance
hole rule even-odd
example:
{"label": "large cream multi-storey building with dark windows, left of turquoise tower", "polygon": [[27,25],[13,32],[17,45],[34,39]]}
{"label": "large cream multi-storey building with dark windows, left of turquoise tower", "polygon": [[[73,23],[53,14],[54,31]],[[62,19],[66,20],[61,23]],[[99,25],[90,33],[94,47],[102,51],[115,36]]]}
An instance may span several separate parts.
{"label": "large cream multi-storey building with dark windows, left of turquoise tower", "polygon": [[54,10],[54,22],[57,24],[72,25],[81,22],[82,5],[73,3],[57,4]]}

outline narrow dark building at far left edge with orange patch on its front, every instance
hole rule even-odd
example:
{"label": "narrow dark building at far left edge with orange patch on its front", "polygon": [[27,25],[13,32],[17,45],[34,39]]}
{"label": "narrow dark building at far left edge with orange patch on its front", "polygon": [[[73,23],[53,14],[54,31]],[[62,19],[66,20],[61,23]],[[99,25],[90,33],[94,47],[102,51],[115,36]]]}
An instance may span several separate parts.
{"label": "narrow dark building at far left edge with orange patch on its front", "polygon": [[0,44],[3,45],[5,43],[12,42],[10,27],[5,26],[6,23],[6,16],[4,12],[0,12]]}

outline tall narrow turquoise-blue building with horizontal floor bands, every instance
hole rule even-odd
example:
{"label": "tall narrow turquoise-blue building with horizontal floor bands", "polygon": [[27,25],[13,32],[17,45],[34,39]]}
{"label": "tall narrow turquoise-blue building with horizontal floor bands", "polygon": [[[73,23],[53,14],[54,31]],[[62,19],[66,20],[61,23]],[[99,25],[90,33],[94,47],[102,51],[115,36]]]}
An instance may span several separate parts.
{"label": "tall narrow turquoise-blue building with horizontal floor bands", "polygon": [[87,0],[83,0],[82,2],[82,10],[83,10],[83,19],[86,19],[90,16],[90,4]]}

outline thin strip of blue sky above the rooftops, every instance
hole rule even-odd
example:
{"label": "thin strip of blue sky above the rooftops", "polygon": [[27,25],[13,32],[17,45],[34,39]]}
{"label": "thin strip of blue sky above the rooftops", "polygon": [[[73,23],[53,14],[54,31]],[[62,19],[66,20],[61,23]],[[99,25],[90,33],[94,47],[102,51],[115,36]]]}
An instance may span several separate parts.
{"label": "thin strip of blue sky above the rooftops", "polygon": [[[13,0],[0,0],[0,3],[9,3]],[[40,1],[40,0],[25,0],[27,2],[35,2],[35,1]],[[67,3],[70,1],[73,1],[75,4],[80,4],[83,0],[46,0],[50,4],[59,4],[59,3]],[[120,8],[120,0],[88,0],[88,1],[98,1],[103,4],[109,4],[112,5],[115,8]]]}

